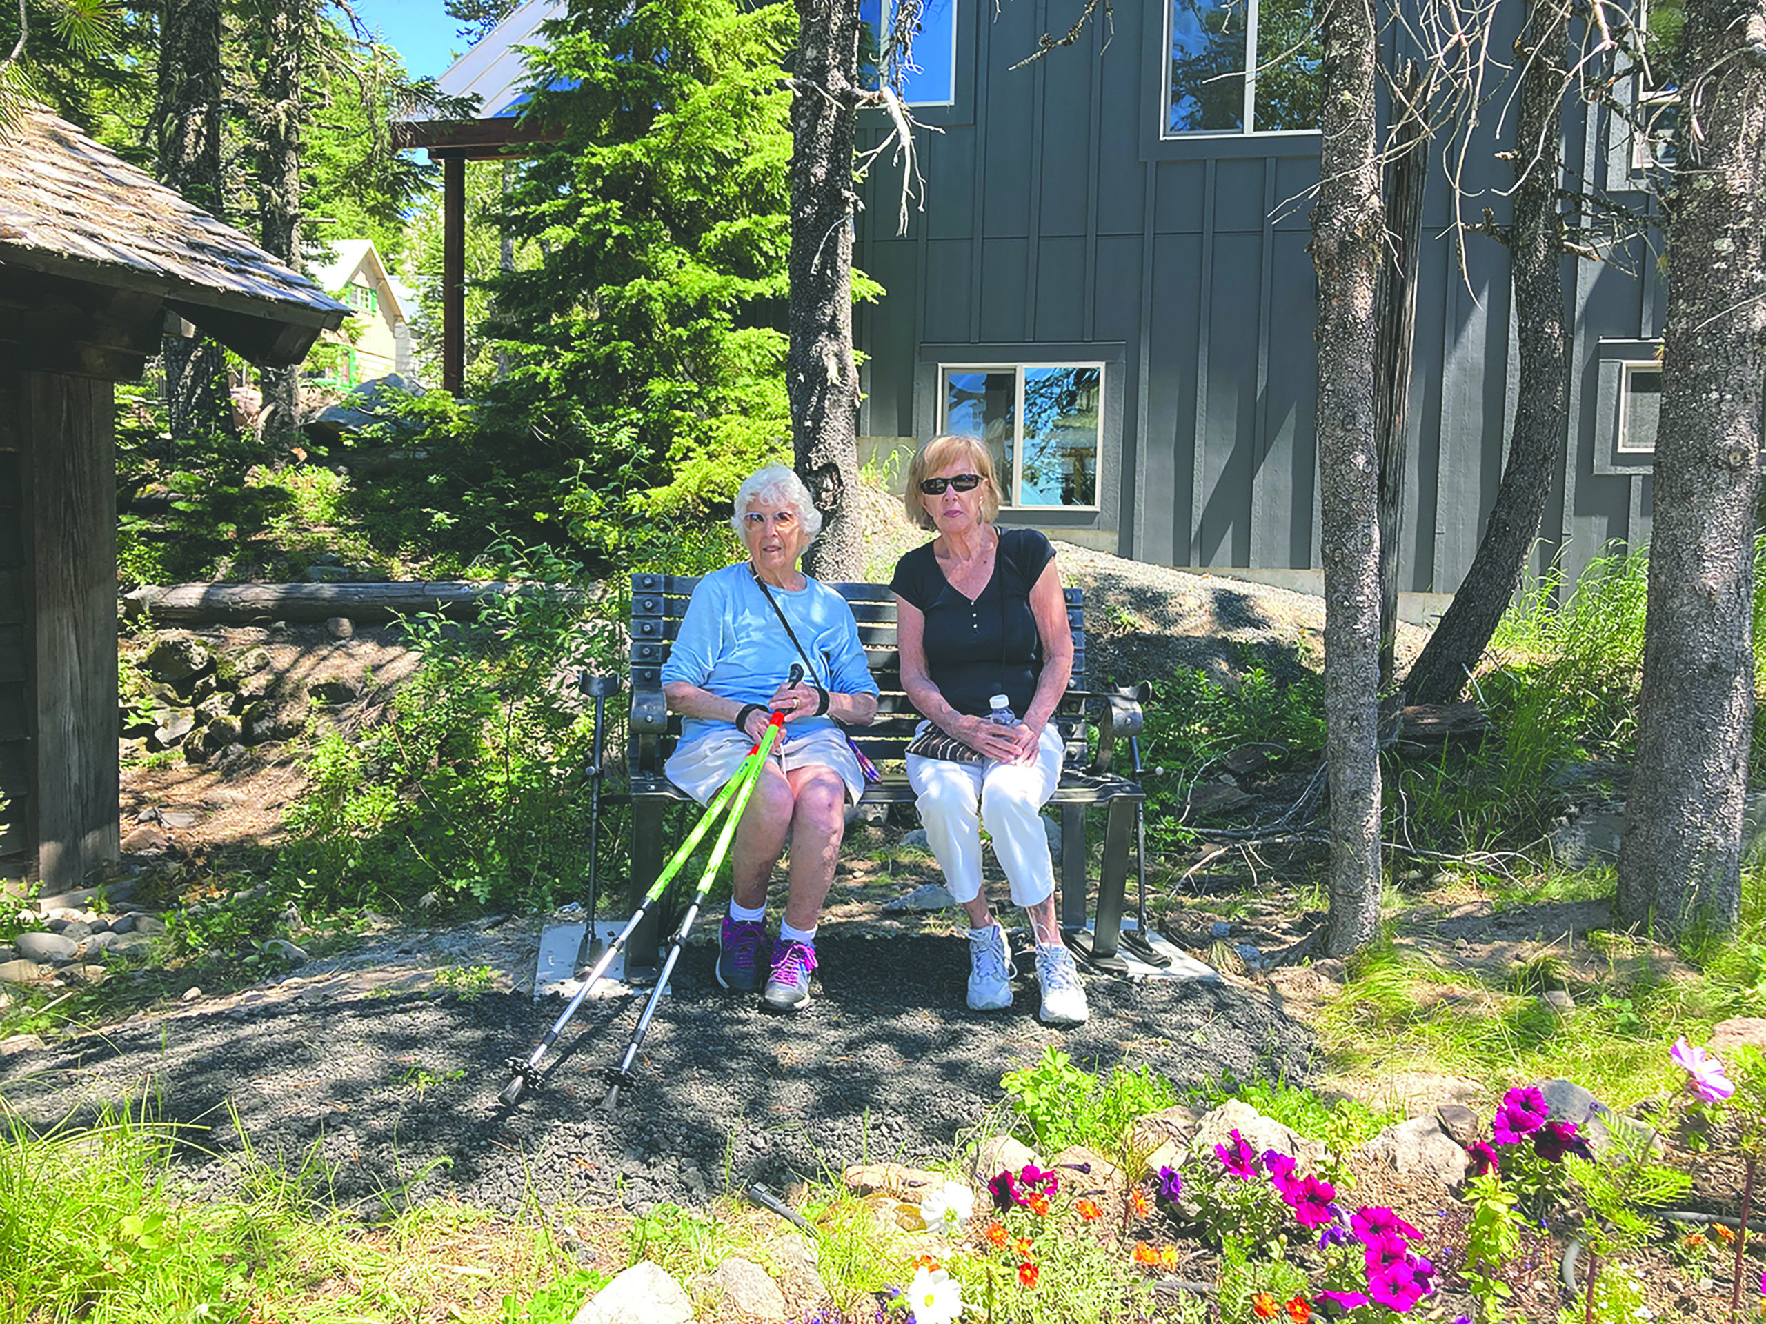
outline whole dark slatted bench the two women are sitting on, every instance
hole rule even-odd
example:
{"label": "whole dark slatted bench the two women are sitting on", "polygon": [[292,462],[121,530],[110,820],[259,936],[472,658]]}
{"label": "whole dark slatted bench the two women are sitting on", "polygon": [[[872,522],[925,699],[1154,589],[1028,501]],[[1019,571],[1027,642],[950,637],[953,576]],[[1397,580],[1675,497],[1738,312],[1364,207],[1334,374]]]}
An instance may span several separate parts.
{"label": "whole dark slatted bench the two women are sitting on", "polygon": [[[632,872],[630,904],[650,890],[662,872],[662,814],[671,803],[689,796],[662,773],[662,763],[680,734],[680,718],[662,699],[662,664],[680,632],[682,614],[698,579],[664,574],[632,575],[632,720],[627,766],[632,784]],[[858,621],[858,639],[871,662],[871,674],[883,692],[878,717],[869,727],[851,727],[858,747],[883,770],[881,782],[865,787],[865,805],[911,805],[913,787],[902,766],[902,749],[913,738],[918,713],[901,688],[901,660],[895,653],[895,597],[887,584],[834,584]],[[1128,851],[1134,842],[1134,807],[1144,800],[1141,787],[1111,770],[1116,741],[1141,733],[1141,704],[1132,690],[1093,694],[1086,688],[1084,597],[1067,590],[1067,618],[1074,630],[1074,676],[1056,710],[1056,724],[1067,741],[1067,764],[1051,805],[1061,810],[1061,927],[1068,941],[1097,960],[1116,955],[1121,932],[1123,891],[1128,876]],[[1097,749],[1086,743],[1086,704],[1095,708]],[[1086,923],[1086,810],[1104,807],[1104,858],[1098,872],[1098,913],[1093,936]],[[627,943],[627,966],[643,969],[657,964],[655,925],[646,923]]]}

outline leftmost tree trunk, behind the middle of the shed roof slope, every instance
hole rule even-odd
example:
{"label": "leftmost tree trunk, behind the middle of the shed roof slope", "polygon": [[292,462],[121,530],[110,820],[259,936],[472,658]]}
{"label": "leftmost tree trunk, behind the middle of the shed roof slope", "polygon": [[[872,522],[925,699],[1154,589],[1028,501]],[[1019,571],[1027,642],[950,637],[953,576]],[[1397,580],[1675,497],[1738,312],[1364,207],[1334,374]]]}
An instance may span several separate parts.
{"label": "leftmost tree trunk, behind the middle of the shed roof slope", "polygon": [[[221,0],[166,0],[154,106],[159,178],[185,201],[224,219],[221,97]],[[173,441],[231,427],[219,344],[166,335],[161,365]]]}

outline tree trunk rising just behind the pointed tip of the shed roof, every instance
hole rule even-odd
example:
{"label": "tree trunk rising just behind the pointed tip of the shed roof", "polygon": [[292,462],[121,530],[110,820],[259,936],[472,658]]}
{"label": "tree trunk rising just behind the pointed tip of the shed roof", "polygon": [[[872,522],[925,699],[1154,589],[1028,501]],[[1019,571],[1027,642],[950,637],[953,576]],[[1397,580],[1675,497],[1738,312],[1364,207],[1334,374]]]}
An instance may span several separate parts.
{"label": "tree trunk rising just behind the pointed tip of the shed roof", "polygon": [[[300,270],[300,64],[309,0],[267,0],[258,11],[258,233],[263,247]],[[261,371],[265,441],[291,445],[300,422],[300,369]]]}

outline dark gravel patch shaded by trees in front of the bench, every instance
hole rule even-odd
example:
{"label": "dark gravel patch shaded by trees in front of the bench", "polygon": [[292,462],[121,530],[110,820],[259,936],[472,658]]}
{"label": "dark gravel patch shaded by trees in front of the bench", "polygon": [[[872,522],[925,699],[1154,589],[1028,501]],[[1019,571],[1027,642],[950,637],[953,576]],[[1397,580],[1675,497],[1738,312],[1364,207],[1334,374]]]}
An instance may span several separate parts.
{"label": "dark gravel patch shaded by trees in front of the bench", "polygon": [[[217,1192],[240,1151],[295,1169],[314,1151],[339,1206],[452,1195],[514,1211],[525,1195],[634,1209],[701,1204],[729,1185],[782,1188],[860,1160],[948,1156],[1001,1103],[1000,1075],[1044,1045],[1107,1070],[1151,1064],[1174,1082],[1280,1072],[1303,1082],[1312,1033],[1224,982],[1091,978],[1091,1020],[1049,1031],[1035,978],[1014,1008],[962,1006],[961,939],[818,943],[821,983],[796,1017],[770,1017],[710,976],[694,944],[650,1026],[636,1093],[600,1110],[602,1072],[625,1052],[636,997],[585,1003],[519,1107],[496,1095],[560,1004],[385,985],[328,999],[233,1004],[140,1020],[0,1063],[0,1100],[34,1126],[104,1103],[148,1102],[180,1123],[180,1172]],[[1028,967],[1021,962],[1021,969]]]}

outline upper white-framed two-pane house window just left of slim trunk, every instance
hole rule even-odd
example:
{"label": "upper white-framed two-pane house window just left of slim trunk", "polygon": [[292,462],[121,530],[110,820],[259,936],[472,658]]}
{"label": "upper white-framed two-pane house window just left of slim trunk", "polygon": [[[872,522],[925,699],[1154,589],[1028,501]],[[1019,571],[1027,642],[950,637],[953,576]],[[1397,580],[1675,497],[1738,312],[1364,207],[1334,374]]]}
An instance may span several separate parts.
{"label": "upper white-framed two-pane house window just left of slim trunk", "polygon": [[1312,0],[1169,0],[1166,136],[1319,125]]}

